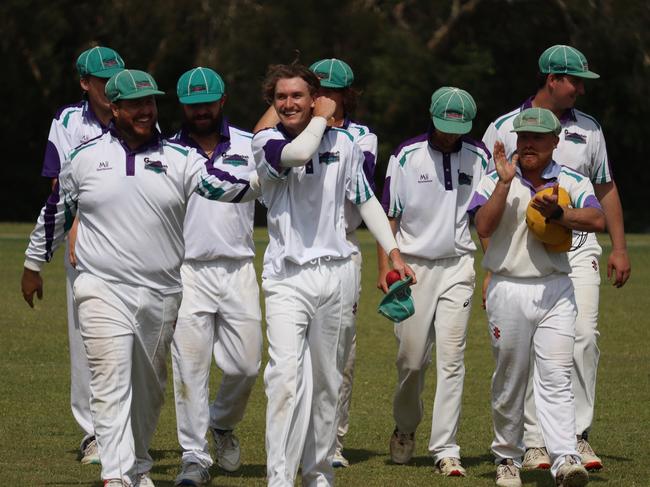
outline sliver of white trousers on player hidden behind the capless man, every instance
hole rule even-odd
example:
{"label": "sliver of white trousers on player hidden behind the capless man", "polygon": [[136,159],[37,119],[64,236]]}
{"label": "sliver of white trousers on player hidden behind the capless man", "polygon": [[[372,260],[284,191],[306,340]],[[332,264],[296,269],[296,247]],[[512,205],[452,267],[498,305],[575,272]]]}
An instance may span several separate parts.
{"label": "sliver of white trousers on player hidden behind the capless man", "polygon": [[[359,249],[359,240],[357,239],[356,233],[351,232],[347,234],[347,239],[351,242],[356,249]],[[356,279],[359,283],[359,286],[356,289],[356,295],[354,299],[354,307],[352,309],[352,319],[355,321],[355,333],[352,336],[352,341],[350,345],[350,351],[348,353],[348,358],[345,361],[345,367],[343,369],[343,382],[341,383],[341,390],[339,392],[339,405],[336,410],[337,417],[337,431],[336,431],[336,448],[343,449],[343,440],[345,435],[350,429],[350,404],[352,403],[352,382],[354,381],[354,363],[357,359],[357,333],[356,333],[356,313],[357,307],[359,306],[359,298],[361,297],[361,265],[363,259],[361,257],[361,250],[359,249],[358,253],[352,254],[350,257],[352,262],[354,262],[354,270],[357,273]],[[343,344],[347,346],[347,344]]]}

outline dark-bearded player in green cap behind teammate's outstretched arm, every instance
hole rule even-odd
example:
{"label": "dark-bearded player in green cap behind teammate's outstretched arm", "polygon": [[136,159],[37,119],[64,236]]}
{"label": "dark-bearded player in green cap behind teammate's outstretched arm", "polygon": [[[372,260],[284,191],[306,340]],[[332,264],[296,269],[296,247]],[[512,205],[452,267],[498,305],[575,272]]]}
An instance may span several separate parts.
{"label": "dark-bearded player in green cap behind teammate's outstretched arm", "polygon": [[[211,166],[235,177],[255,171],[253,135],[224,117],[225,84],[215,71],[197,67],[177,84],[184,125],[172,142],[194,148]],[[205,439],[216,444],[217,464],[228,472],[241,465],[233,429],[241,421],[262,354],[259,286],[253,266],[253,201],[232,205],[190,197],[181,267],[183,300],[172,341],[178,442],[183,450],[176,485],[206,485],[213,461]],[[208,404],[214,354],[223,378]]]}

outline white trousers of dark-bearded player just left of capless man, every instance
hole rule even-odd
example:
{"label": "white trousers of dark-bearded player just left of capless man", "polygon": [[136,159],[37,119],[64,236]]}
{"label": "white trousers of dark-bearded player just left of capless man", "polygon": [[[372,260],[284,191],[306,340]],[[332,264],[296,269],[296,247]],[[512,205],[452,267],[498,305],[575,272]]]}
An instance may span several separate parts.
{"label": "white trousers of dark-bearded player just left of capless man", "polygon": [[[262,359],[262,313],[252,259],[189,261],[181,267],[183,301],[172,341],[174,398],[183,463],[208,468],[208,427],[242,420]],[[209,404],[212,355],[223,371]]]}

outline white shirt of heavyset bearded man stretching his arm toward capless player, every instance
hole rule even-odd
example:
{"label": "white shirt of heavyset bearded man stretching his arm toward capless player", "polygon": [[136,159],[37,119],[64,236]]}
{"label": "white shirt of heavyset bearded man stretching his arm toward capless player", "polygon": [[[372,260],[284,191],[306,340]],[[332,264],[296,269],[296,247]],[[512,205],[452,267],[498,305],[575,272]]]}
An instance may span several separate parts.
{"label": "white shirt of heavyset bearded man stretching his arm toward capless player", "polygon": [[110,130],[69,155],[41,210],[25,265],[40,269],[79,214],[77,270],[163,292],[181,288],[183,220],[190,195],[239,201],[247,180],[157,136],[137,151]]}

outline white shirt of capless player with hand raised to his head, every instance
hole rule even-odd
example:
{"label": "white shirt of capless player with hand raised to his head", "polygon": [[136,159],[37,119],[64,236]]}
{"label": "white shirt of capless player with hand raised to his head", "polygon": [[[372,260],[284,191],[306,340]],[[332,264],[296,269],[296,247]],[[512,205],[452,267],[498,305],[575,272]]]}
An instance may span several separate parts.
{"label": "white shirt of capless player with hand raised to his head", "polygon": [[253,137],[253,155],[268,211],[269,245],[263,277],[282,277],[285,261],[344,259],[355,249],[345,238],[345,201],[373,196],[363,173],[364,156],[353,137],[328,128],[305,165],[284,168],[280,157],[292,137],[281,124]]}

